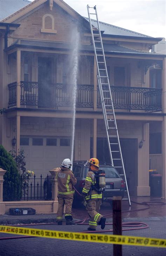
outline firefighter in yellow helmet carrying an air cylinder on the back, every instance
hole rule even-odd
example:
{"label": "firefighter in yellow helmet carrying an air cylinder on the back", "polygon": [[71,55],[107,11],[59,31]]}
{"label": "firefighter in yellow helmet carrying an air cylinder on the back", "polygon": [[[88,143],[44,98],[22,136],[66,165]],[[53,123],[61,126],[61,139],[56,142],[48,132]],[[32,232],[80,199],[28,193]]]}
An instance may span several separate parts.
{"label": "firefighter in yellow helmet carrying an air cylinder on the back", "polygon": [[99,170],[99,161],[97,158],[91,158],[88,161],[89,171],[85,179],[85,185],[82,190],[82,195],[87,202],[86,209],[90,216],[88,230],[95,231],[96,226],[101,225],[105,228],[106,218],[99,214],[100,205],[102,202],[102,193],[96,190],[95,187],[95,172]]}

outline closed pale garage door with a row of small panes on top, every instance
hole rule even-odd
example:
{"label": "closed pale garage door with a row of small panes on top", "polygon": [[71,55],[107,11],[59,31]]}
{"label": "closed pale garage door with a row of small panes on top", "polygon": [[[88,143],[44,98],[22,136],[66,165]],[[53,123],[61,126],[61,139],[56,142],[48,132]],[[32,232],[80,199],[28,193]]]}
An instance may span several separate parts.
{"label": "closed pale garage door with a row of small panes on top", "polygon": [[[70,137],[21,137],[20,149],[25,151],[26,170],[47,175],[71,156]],[[50,173],[49,173],[50,174]]]}

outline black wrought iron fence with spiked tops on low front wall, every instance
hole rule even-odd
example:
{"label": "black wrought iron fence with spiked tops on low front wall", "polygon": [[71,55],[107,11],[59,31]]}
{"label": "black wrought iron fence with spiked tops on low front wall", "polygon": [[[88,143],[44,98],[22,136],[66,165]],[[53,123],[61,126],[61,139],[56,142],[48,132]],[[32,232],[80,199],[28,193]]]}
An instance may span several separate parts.
{"label": "black wrought iron fence with spiked tops on low front wall", "polygon": [[10,179],[8,176],[4,181],[7,187],[8,198],[5,201],[29,201],[29,200],[51,200],[52,185],[50,177],[43,178],[42,174],[39,177],[20,175],[14,176],[14,179]]}

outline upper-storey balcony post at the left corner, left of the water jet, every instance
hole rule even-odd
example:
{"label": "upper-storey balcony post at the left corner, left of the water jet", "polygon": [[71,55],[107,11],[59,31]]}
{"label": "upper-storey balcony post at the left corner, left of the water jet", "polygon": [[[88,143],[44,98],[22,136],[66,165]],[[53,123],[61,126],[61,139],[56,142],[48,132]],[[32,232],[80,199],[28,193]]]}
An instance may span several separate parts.
{"label": "upper-storey balcony post at the left corner, left of the water jet", "polygon": [[20,87],[20,81],[21,81],[21,51],[17,50],[17,107],[20,107],[20,94],[21,94],[21,87]]}

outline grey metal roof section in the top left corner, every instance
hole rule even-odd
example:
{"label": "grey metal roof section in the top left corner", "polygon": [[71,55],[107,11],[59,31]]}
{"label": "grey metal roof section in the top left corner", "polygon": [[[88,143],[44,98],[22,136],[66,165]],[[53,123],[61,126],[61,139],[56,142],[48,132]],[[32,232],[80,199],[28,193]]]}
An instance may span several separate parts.
{"label": "grey metal roof section in the top left corner", "polygon": [[29,5],[28,0],[0,0],[0,21]]}

